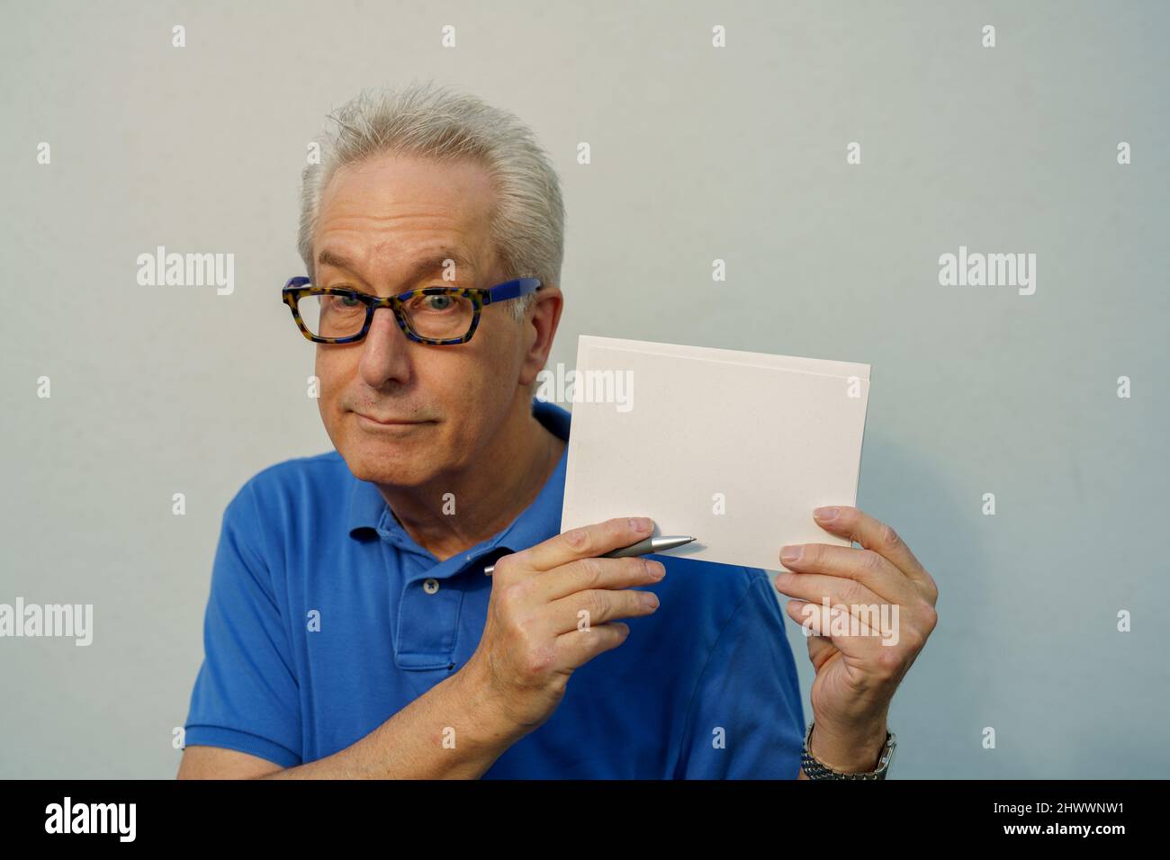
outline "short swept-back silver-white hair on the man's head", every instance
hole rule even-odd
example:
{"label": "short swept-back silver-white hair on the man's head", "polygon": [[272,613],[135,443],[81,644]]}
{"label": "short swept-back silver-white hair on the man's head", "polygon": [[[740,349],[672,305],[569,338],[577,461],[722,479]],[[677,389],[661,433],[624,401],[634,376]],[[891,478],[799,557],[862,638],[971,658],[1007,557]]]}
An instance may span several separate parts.
{"label": "short swept-back silver-white hair on the man's head", "polygon": [[[505,277],[538,277],[549,287],[560,285],[565,228],[560,183],[531,130],[514,113],[446,87],[412,82],[363,90],[329,116],[337,129],[318,139],[321,163],[302,173],[297,250],[310,278],[316,277],[312,236],[329,180],[344,165],[391,152],[483,165],[495,190],[489,229]],[[508,304],[519,321],[535,301],[536,295],[529,294]]]}

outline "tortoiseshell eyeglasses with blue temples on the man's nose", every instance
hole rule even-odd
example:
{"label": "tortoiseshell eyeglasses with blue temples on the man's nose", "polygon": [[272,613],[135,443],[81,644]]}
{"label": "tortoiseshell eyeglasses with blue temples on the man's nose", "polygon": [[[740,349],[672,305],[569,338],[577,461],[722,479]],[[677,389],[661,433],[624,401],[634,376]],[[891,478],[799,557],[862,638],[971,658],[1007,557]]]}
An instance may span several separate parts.
{"label": "tortoiseshell eyeglasses with blue temples on the man's nose", "polygon": [[424,287],[379,298],[349,287],[314,287],[308,277],[292,277],[281,294],[301,333],[314,343],[360,340],[370,331],[373,312],[388,308],[411,340],[447,346],[472,339],[484,305],[526,296],[541,285],[539,278],[521,277],[491,288]]}

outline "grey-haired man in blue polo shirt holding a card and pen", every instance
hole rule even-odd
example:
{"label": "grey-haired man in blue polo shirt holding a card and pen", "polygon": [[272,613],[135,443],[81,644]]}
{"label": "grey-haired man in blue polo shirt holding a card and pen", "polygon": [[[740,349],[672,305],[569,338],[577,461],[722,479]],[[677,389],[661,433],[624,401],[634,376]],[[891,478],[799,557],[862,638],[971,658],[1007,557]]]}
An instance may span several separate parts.
{"label": "grey-haired man in blue polo shirt holding a card and pen", "polygon": [[336,452],[225,511],[179,777],[883,777],[935,625],[910,550],[847,507],[818,522],[863,549],[784,548],[784,593],[901,608],[896,647],[810,618],[806,732],[764,571],[598,558],[645,516],[558,534],[570,413],[532,392],[564,211],[531,132],[429,85],[336,119],[283,293]]}

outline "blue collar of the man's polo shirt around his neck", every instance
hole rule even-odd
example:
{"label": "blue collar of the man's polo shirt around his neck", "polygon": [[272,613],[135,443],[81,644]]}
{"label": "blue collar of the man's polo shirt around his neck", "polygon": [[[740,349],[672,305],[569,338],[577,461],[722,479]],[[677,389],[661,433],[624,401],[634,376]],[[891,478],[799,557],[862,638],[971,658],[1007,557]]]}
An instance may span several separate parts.
{"label": "blue collar of the man's polo shirt around his neck", "polygon": [[[558,438],[569,440],[571,414],[569,411],[545,400],[532,400],[532,414]],[[511,524],[495,537],[475,548],[476,553],[490,551],[497,546],[505,546],[510,551],[518,551],[546,541],[549,537],[560,532],[560,511],[564,505],[565,494],[565,467],[569,460],[569,446],[565,446],[557,462],[557,468],[545,481],[536,501],[511,522]],[[352,474],[351,474],[352,477]],[[395,538],[394,543],[406,543],[418,546],[406,534],[401,525],[390,511],[390,505],[383,498],[377,484],[370,481],[360,481],[356,477],[353,488],[350,491],[349,531],[351,537],[377,535],[390,532],[388,537]]]}

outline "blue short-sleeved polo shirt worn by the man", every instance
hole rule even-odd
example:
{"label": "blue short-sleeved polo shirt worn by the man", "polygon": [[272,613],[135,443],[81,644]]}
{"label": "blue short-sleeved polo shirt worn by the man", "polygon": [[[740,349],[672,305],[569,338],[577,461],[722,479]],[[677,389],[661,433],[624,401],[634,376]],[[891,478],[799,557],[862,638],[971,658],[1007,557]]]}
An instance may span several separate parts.
{"label": "blue short-sleeved polo shirt worn by the man", "polygon": [[[542,400],[532,412],[569,438],[569,412]],[[445,562],[336,450],[250,479],[223,512],[186,744],[290,768],[459,672],[483,632],[483,567],[560,531],[567,453],[507,529]],[[659,610],[624,619],[626,641],[577,669],[484,778],[797,777],[804,711],[769,575],[654,557],[667,575],[645,590]]]}

